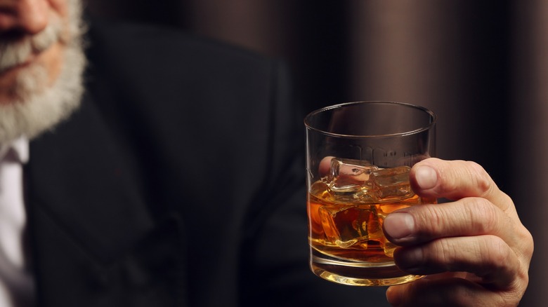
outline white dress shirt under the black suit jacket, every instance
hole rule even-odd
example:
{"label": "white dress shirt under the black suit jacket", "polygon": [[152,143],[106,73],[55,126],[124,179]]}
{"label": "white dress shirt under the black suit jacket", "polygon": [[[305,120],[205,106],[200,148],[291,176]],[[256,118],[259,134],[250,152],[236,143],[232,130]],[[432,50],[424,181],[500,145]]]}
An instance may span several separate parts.
{"label": "white dress shirt under the black suit jacket", "polygon": [[0,144],[0,306],[27,307],[34,302],[34,279],[25,261],[22,165],[28,158],[27,139]]}

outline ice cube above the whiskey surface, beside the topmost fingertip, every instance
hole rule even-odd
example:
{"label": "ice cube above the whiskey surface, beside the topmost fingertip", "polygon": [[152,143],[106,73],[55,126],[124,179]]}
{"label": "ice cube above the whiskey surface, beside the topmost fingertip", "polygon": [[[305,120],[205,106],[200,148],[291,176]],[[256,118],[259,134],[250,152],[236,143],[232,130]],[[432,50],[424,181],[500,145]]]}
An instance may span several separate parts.
{"label": "ice cube above the whiskey surface, beside the topmost fingertip", "polygon": [[372,190],[379,200],[399,200],[415,195],[409,183],[408,166],[384,168],[371,174]]}

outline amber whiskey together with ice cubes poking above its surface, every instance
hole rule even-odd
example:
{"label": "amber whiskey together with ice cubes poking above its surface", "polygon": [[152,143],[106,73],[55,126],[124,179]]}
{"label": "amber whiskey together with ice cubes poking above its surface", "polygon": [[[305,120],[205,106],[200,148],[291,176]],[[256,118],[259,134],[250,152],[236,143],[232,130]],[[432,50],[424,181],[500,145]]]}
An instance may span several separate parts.
{"label": "amber whiskey together with ice cubes poking above its surface", "polygon": [[311,184],[307,210],[312,270],[348,285],[396,285],[420,278],[393,263],[396,245],[384,237],[382,224],[391,212],[436,199],[413,193],[408,167],[373,168],[367,176],[363,168],[352,170],[359,181],[337,174]]}

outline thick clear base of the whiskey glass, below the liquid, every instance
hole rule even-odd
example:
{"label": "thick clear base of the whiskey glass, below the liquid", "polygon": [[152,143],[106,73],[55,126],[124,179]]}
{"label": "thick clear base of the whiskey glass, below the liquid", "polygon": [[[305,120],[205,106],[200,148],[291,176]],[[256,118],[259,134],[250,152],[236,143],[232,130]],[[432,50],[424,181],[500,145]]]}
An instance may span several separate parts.
{"label": "thick clear base of the whiskey glass, below the liquid", "polygon": [[353,286],[391,286],[412,282],[422,275],[409,275],[393,262],[360,263],[311,255],[311,270],[325,280]]}

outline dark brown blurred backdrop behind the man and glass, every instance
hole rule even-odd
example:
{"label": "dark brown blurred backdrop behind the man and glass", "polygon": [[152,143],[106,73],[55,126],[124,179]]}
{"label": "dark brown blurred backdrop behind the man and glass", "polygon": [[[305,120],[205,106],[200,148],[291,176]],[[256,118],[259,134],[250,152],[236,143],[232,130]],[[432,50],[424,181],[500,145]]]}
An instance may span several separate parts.
{"label": "dark brown blurred backdrop behind the man and glass", "polygon": [[304,112],[356,100],[435,111],[438,156],[473,160],[535,237],[521,306],[548,301],[548,1],[89,0],[286,60]]}

